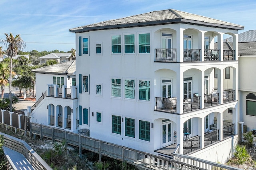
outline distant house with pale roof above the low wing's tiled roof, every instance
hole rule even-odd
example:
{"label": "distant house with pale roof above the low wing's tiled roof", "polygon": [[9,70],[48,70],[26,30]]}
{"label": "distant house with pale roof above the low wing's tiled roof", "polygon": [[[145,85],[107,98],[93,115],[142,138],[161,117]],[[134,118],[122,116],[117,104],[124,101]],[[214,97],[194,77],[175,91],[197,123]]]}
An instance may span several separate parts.
{"label": "distant house with pale roof above the low wing's tiled roof", "polygon": [[71,53],[50,53],[48,55],[44,55],[42,57],[39,57],[41,64],[46,63],[48,60],[55,60],[58,63],[63,63],[68,61],[68,57],[71,56]]}

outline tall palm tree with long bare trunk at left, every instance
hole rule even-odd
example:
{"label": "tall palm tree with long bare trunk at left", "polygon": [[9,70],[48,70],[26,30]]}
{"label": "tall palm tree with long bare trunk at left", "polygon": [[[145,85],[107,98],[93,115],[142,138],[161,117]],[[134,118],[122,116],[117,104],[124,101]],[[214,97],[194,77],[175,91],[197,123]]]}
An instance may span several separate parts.
{"label": "tall palm tree with long bare trunk at left", "polygon": [[6,35],[6,40],[1,39],[0,43],[6,45],[7,48],[7,55],[10,57],[10,92],[9,92],[9,99],[10,99],[10,111],[12,111],[12,57],[15,57],[18,53],[18,50],[23,50],[26,47],[26,43],[20,37],[20,34],[17,34],[15,37],[10,33],[4,33]]}

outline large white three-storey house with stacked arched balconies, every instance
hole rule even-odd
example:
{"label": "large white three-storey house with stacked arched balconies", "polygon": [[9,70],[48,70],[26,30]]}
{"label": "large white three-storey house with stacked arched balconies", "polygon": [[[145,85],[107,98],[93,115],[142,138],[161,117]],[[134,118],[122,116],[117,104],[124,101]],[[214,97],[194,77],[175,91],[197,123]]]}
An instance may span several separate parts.
{"label": "large white three-storey house with stacked arched balconies", "polygon": [[[38,86],[47,91],[43,101],[52,102],[36,107],[40,113],[34,109],[32,121],[89,129],[92,138],[152,154],[170,156],[177,148],[226,162],[238,141],[237,39],[243,28],[169,9],[70,29],[76,33],[78,93],[70,109],[62,109],[62,121],[71,119],[71,128],[58,125],[64,105],[49,97],[58,96],[44,85],[54,83],[50,77]],[[224,51],[225,34],[234,39],[232,50]]]}

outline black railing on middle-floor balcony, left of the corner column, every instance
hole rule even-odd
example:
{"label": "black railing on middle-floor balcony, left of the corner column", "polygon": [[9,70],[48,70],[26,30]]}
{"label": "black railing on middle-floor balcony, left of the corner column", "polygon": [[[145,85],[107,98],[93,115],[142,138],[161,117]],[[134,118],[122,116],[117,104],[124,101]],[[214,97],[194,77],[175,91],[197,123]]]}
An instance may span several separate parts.
{"label": "black railing on middle-floor balcony, left of the corner column", "polygon": [[156,110],[176,113],[177,98],[159,98],[156,97]]}

